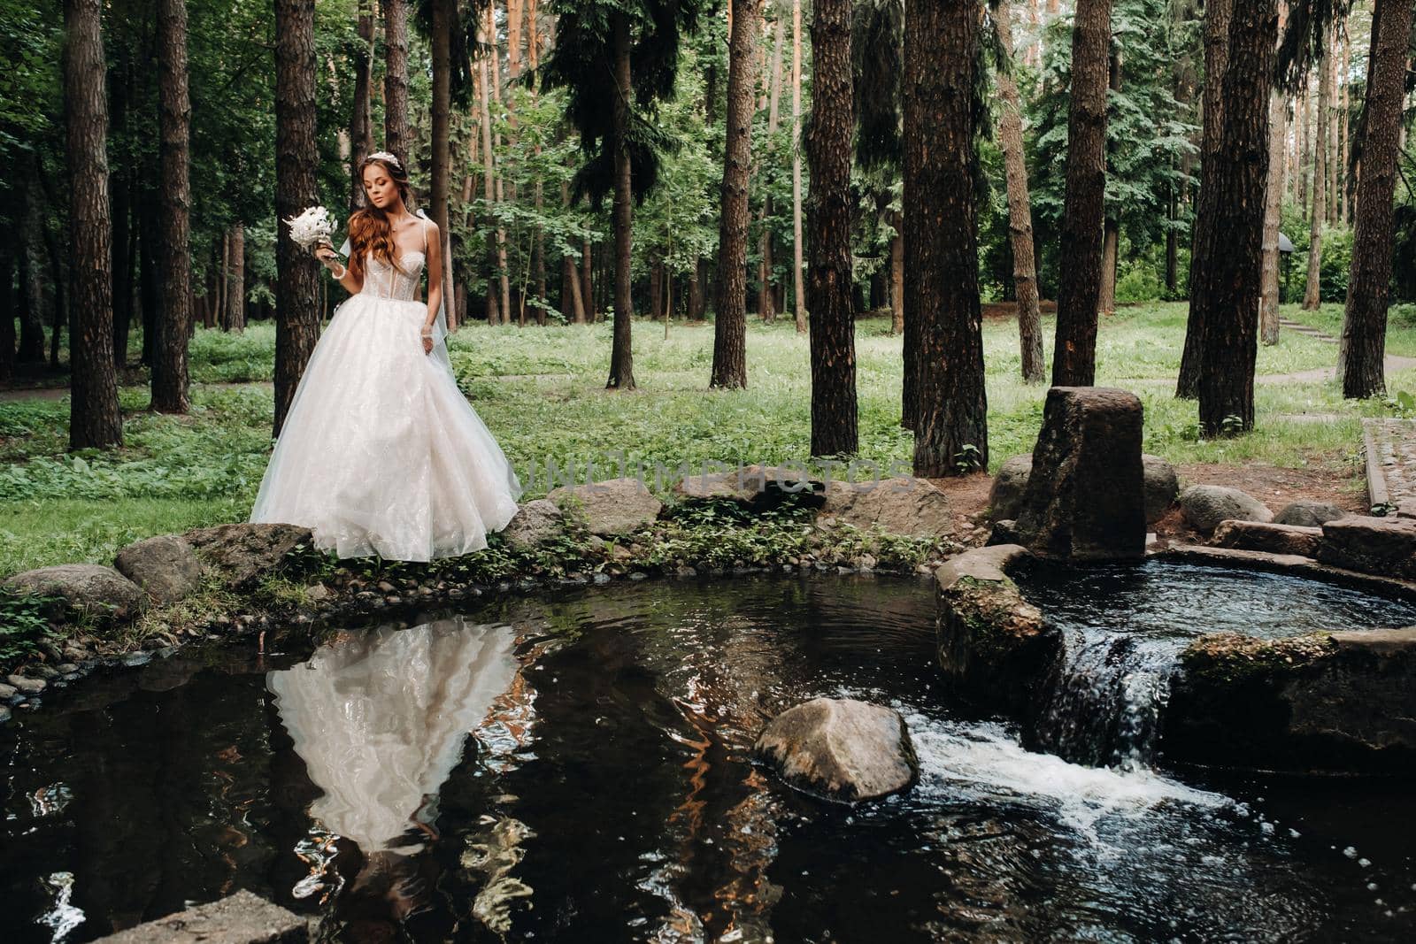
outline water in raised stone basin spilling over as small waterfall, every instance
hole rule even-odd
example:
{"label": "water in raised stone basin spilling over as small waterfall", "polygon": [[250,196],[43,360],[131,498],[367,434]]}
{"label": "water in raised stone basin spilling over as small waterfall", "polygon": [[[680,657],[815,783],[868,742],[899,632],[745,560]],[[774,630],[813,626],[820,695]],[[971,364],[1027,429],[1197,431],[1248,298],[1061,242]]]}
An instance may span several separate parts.
{"label": "water in raised stone basin spilling over as small waterfall", "polygon": [[1062,630],[1062,664],[1037,743],[1078,763],[1154,764],[1181,651],[1206,633],[1281,638],[1416,624],[1416,601],[1286,573],[1168,560],[1012,573]]}

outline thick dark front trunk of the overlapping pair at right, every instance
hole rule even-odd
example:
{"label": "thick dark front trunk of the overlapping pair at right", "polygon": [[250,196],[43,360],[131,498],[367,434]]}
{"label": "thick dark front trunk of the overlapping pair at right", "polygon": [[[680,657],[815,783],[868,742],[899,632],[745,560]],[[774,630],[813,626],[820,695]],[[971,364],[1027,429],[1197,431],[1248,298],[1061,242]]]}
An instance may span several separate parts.
{"label": "thick dark front trunk of the overlapping pair at right", "polygon": [[1235,4],[1225,69],[1225,120],[1214,187],[1215,225],[1192,304],[1199,307],[1199,426],[1208,436],[1253,429],[1269,92],[1279,35],[1276,0]]}

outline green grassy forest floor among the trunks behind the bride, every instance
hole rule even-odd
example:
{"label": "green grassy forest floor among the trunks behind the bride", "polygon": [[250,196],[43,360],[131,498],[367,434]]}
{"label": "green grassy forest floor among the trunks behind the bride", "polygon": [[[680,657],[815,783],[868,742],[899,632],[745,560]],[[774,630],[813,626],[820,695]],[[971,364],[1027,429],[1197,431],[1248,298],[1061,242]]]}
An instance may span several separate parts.
{"label": "green grassy forest floor among the trunks behind the bride", "polygon": [[[1286,306],[1284,316],[1331,334],[1341,306],[1315,313]],[[1052,326],[1045,316],[1049,355]],[[1172,396],[1184,327],[1184,303],[1126,306],[1102,321],[1097,384],[1141,398],[1146,451],[1175,463],[1187,481],[1246,488],[1272,507],[1293,497],[1362,507],[1361,419],[1395,415],[1393,405],[1344,401],[1330,381],[1311,374],[1331,367],[1335,348],[1284,331],[1277,345],[1259,351],[1259,375],[1284,379],[1259,385],[1255,430],[1204,439],[1195,403]],[[139,344],[135,335],[135,352]],[[605,389],[609,345],[605,323],[472,326],[453,337],[463,392],[511,457],[525,498],[545,494],[551,461],[562,476],[569,468],[583,481],[588,461],[596,478],[606,478],[620,474],[623,457],[627,474],[643,463],[650,484],[656,463],[671,484],[708,460],[807,461],[809,350],[790,318],[749,320],[745,391],[708,389],[711,326],[671,323],[666,338],[663,323],[636,321],[633,392]],[[125,446],[112,451],[67,451],[62,393],[54,399],[50,392],[14,391],[17,399],[0,399],[0,575],[51,563],[108,563],[140,538],[245,521],[270,449],[273,348],[270,324],[242,335],[198,330],[191,415],[150,413],[147,389],[123,386]],[[1416,321],[1393,317],[1388,348],[1416,357]],[[1014,321],[984,321],[984,357],[993,470],[1032,450],[1046,388],[1018,379]],[[1416,365],[1396,367],[1388,388],[1393,395],[1416,392]],[[140,379],[140,372],[127,374]],[[882,470],[892,461],[908,468],[912,437],[898,423],[901,338],[889,334],[888,317],[858,323],[857,385],[860,459]],[[939,484],[961,514],[987,504],[987,476]]]}

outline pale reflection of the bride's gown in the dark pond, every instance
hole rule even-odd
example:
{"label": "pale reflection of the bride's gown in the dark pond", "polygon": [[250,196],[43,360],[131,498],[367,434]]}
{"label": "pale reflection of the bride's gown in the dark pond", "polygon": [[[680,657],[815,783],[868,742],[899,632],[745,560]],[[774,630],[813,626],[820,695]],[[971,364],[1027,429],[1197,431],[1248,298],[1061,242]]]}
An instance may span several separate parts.
{"label": "pale reflection of the bride's gown in the dark pond", "polygon": [[422,848],[463,742],[518,669],[510,626],[379,628],[270,672],[280,720],[324,795],[310,815],[365,856]]}

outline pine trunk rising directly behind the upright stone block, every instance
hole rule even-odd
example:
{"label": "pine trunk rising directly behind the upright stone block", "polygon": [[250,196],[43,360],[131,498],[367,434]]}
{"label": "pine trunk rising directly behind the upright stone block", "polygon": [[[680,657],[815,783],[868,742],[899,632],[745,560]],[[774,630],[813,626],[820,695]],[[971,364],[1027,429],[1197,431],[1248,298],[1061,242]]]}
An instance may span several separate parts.
{"label": "pine trunk rising directly behind the upright stone block", "polygon": [[1078,0],[1072,27],[1072,96],[1062,209],[1062,246],[1068,265],[1058,290],[1056,350],[1052,354],[1055,386],[1090,386],[1096,378],[1110,42],[1112,0]]}

